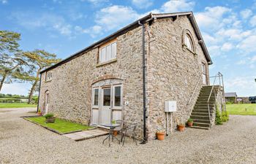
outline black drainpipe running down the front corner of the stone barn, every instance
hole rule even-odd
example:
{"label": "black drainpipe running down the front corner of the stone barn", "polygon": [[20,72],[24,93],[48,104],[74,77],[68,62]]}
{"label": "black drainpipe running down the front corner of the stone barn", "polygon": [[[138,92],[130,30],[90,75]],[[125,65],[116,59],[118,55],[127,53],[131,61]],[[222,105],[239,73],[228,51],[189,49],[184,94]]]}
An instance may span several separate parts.
{"label": "black drainpipe running down the front corner of the stone barn", "polygon": [[144,24],[138,21],[138,24],[142,26],[142,69],[143,69],[143,141],[140,144],[146,144],[147,136],[146,136],[146,64],[145,64],[145,26]]}

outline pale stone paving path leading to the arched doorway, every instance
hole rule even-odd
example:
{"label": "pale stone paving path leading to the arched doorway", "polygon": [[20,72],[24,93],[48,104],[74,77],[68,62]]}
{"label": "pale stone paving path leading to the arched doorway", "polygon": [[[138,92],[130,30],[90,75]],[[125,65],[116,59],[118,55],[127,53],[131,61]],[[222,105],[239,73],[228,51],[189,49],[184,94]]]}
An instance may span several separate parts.
{"label": "pale stone paving path leading to the arched doorway", "polygon": [[94,129],[94,130],[86,130],[86,131],[80,131],[75,133],[68,133],[68,134],[64,134],[63,136],[66,136],[67,138],[70,138],[75,141],[82,141],[82,140],[94,138],[97,136],[104,136],[106,134],[108,134],[108,131]]}

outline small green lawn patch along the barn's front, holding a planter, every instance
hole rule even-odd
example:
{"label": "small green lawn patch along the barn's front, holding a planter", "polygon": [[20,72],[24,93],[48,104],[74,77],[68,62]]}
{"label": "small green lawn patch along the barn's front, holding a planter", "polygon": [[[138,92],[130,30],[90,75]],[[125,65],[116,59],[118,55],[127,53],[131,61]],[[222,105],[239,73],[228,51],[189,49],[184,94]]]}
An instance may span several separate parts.
{"label": "small green lawn patch along the barn's front, holding a planter", "polygon": [[30,117],[26,119],[31,120],[32,122],[36,122],[44,127],[56,130],[59,133],[70,133],[72,131],[88,130],[89,128],[91,128],[90,126],[81,125],[75,122],[69,122],[58,118],[56,118],[54,123],[45,123],[45,117]]}

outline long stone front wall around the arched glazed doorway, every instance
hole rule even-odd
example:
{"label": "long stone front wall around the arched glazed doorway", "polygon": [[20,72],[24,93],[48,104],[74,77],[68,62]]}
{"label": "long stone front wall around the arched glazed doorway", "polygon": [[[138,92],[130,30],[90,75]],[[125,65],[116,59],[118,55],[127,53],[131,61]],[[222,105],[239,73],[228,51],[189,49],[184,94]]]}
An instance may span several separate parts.
{"label": "long stone front wall around the arched glazed doorway", "polygon": [[143,81],[142,81],[141,27],[117,37],[116,61],[97,66],[98,48],[85,52],[50,71],[53,78],[45,82],[42,74],[39,108],[44,108],[45,92],[50,92],[48,112],[56,117],[89,125],[91,118],[91,85],[103,79],[123,81],[123,119],[138,122],[142,134]]}

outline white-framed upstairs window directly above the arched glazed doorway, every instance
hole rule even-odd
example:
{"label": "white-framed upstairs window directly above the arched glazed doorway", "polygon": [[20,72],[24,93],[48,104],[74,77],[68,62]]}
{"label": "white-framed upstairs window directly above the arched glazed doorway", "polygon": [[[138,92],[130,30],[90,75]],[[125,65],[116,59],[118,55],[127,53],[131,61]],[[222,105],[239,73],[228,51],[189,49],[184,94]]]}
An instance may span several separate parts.
{"label": "white-framed upstairs window directly above the arched glazed doorway", "polygon": [[99,47],[99,63],[104,63],[116,58],[116,41]]}

